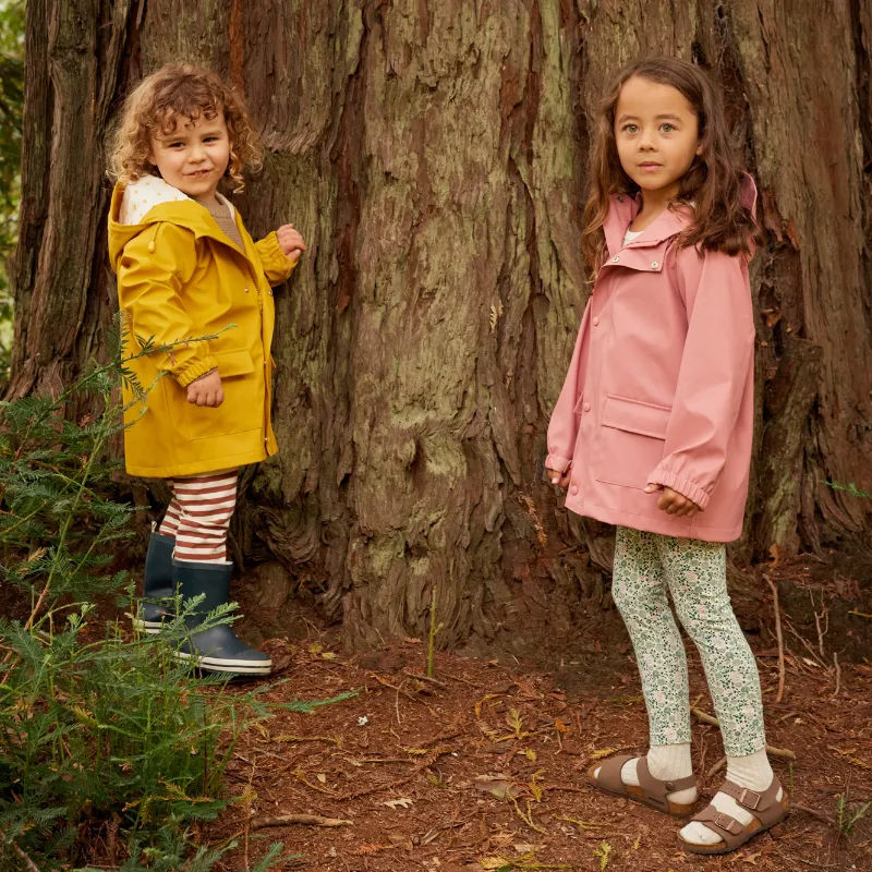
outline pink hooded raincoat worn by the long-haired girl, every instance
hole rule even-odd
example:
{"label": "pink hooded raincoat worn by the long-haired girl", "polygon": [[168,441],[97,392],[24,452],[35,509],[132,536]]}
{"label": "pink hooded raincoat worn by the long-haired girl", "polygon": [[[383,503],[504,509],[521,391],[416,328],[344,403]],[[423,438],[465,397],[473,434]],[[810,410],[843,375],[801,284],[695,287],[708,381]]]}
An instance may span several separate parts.
{"label": "pink hooded raincoat worn by the long-haired girl", "polygon": [[[742,198],[753,208],[750,177]],[[623,245],[639,204],[611,196],[608,259],[584,311],[548,427],[545,465],[569,470],[567,508],[635,530],[705,542],[741,535],[754,417],[748,258],[700,255],[664,211]],[[676,518],[650,483],[703,510]]]}

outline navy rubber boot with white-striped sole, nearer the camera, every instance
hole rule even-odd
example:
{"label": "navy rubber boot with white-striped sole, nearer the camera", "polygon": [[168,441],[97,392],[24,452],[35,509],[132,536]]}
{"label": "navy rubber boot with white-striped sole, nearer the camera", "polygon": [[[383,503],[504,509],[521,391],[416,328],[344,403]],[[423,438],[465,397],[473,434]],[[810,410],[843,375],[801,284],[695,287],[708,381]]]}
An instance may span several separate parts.
{"label": "navy rubber boot with white-striped sole, nearer the camera", "polygon": [[[185,616],[189,630],[199,627],[210,611],[230,602],[232,572],[232,564],[172,558],[172,580],[182,602],[205,594],[196,611]],[[239,677],[269,675],[272,669],[269,655],[249,647],[227,623],[193,633],[179,647],[177,656],[191,661],[204,673]]]}

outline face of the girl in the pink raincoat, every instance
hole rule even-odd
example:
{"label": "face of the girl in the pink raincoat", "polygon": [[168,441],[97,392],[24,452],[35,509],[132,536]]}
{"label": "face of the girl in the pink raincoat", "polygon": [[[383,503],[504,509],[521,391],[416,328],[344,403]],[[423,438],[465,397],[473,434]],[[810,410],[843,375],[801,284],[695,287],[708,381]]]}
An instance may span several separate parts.
{"label": "face of the girl in the pink raincoat", "polygon": [[675,196],[701,150],[697,112],[671,85],[632,76],[615,108],[615,142],[623,171],[643,194]]}

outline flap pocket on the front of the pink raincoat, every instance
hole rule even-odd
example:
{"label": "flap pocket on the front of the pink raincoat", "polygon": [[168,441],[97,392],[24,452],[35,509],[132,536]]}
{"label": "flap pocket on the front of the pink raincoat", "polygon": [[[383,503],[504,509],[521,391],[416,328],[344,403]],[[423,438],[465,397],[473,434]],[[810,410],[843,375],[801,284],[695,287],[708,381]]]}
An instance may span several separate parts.
{"label": "flap pocket on the front of the pink raincoat", "polygon": [[663,460],[670,414],[665,405],[606,397],[597,434],[596,480],[644,489]]}

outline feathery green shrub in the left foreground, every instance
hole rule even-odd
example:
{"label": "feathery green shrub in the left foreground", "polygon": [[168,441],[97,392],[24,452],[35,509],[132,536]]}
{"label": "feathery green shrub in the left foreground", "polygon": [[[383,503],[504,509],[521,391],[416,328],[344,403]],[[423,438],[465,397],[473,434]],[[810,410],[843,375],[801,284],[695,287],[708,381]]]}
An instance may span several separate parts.
{"label": "feathery green shrub in the left foreground", "polygon": [[[107,446],[123,428],[112,400],[121,378],[146,391],[117,331],[112,346],[109,364],[58,399],[0,404],[0,578],[26,606],[19,620],[0,618],[0,869],[16,872],[81,868],[95,855],[124,872],[210,869],[222,851],[196,849],[192,826],[233,801],[221,795],[233,744],[269,716],[258,701],[267,688],[231,697],[174,662],[195,603],[160,637],[99,617],[95,602],[112,597],[136,608],[132,581],[112,570],[133,509],[106,495],[118,468]],[[75,422],[73,405],[98,411]]]}

